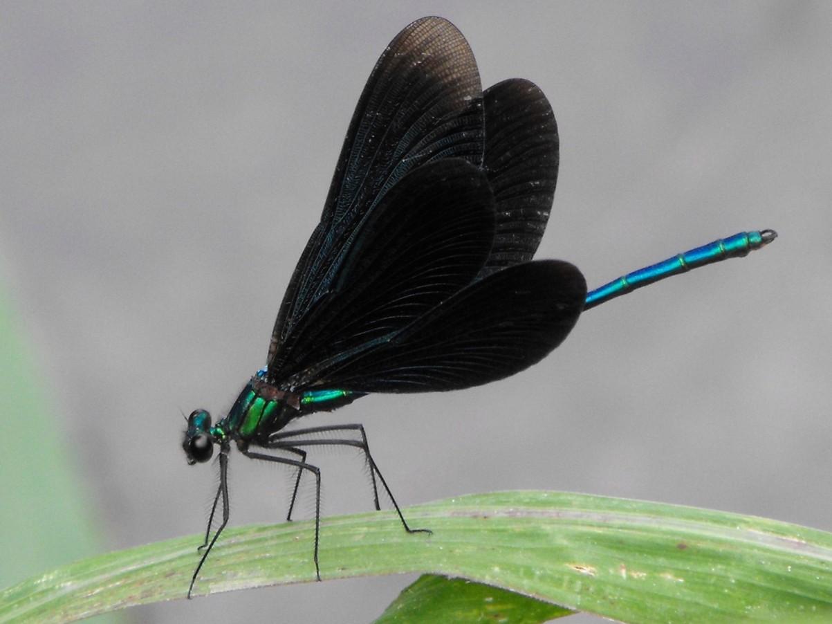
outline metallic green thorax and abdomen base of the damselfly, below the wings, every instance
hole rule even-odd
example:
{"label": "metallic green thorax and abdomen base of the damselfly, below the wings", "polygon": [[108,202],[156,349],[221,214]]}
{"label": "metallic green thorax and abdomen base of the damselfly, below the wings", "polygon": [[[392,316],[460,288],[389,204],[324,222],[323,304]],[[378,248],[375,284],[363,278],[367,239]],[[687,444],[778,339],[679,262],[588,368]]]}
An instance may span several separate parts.
{"label": "metallic green thorax and abdomen base of the damselfly, below the wings", "polygon": [[265,371],[261,370],[245,384],[228,416],[211,428],[211,434],[216,439],[265,438],[280,431],[294,418],[313,412],[329,412],[361,396],[364,393],[334,389],[288,392],[267,383]]}

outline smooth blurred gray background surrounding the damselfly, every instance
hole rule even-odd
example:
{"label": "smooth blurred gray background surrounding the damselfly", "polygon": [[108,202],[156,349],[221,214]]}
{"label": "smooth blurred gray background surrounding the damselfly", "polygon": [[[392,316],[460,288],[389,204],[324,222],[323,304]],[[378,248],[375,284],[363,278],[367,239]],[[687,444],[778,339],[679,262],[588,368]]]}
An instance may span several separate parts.
{"label": "smooth blurred gray background surrounding the damselfly", "polygon": [[[102,551],[204,529],[216,467],[186,465],[181,414],[224,414],[264,364],[364,81],[429,14],[483,86],[526,77],[552,102],[538,257],[595,287],[740,230],[780,238],[587,312],[511,379],[304,424],[364,423],[403,505],[541,488],[832,530],[829,2],[4,3],[0,272]],[[371,508],[359,458],[314,460],[325,514]],[[252,464],[232,453],[231,522],[280,522],[289,479]],[[369,622],[412,580],[128,615]]]}

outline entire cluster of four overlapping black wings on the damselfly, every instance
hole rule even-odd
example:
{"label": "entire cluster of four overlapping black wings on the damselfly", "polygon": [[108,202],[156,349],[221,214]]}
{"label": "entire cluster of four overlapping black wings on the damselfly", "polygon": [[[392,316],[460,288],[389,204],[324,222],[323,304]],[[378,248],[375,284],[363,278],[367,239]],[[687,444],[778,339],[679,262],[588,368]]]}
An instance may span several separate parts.
{"label": "entire cluster of four overlapping black wings on the damselfly", "polygon": [[557,179],[551,106],[524,80],[484,104],[479,88],[468,44],[438,17],[379,59],[281,306],[270,383],[467,388],[536,363],[572,329],[581,273],[527,261]]}

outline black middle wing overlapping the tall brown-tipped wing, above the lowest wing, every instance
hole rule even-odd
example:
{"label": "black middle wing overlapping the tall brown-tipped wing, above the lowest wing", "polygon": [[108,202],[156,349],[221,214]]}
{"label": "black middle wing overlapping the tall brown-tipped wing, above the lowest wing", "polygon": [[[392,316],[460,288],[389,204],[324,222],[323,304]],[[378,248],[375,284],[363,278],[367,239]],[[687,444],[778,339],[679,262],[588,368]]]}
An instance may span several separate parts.
{"label": "black middle wing overlapping the tall brown-tipped wing, above the lowest wing", "polygon": [[493,237],[482,169],[445,158],[411,171],[364,220],[329,291],[285,335],[268,379],[295,389],[320,362],[403,329],[474,279]]}

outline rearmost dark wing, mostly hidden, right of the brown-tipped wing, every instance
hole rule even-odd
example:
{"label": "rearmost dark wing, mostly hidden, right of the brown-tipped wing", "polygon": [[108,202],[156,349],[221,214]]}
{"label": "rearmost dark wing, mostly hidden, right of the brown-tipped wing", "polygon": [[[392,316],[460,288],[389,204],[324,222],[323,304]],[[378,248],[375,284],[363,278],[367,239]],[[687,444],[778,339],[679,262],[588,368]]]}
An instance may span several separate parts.
{"label": "rearmost dark wing, mostly hidden, right of the brown-tipped wing", "polygon": [[497,235],[480,277],[532,260],[552,210],[559,143],[552,106],[533,82],[499,82],[486,89],[483,107]]}

